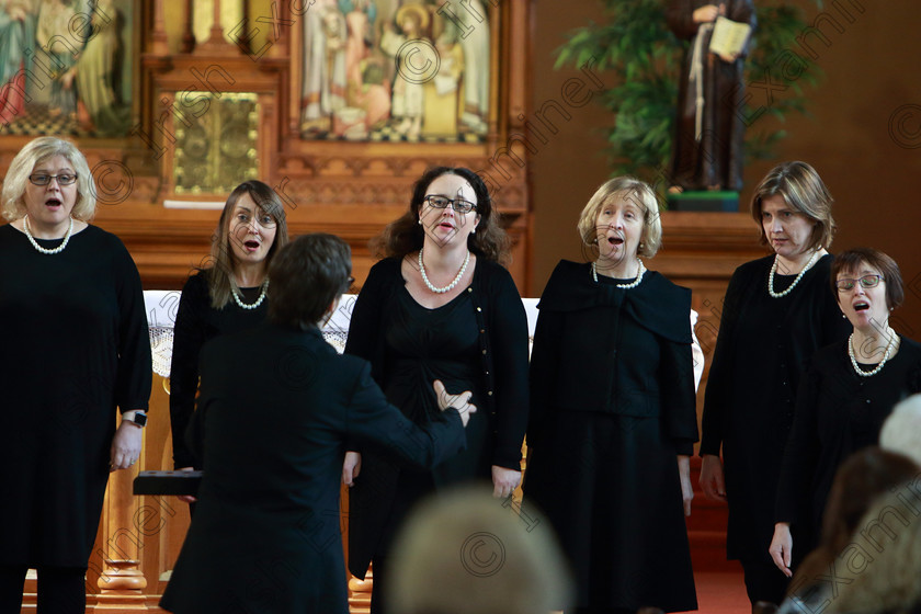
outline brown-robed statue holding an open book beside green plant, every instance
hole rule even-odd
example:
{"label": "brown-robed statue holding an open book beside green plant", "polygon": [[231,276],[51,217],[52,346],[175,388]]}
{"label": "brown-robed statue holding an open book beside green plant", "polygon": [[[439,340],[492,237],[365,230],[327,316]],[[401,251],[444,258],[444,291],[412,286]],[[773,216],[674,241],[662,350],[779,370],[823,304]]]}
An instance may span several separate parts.
{"label": "brown-robed statue holding an open book beside green plant", "polygon": [[666,14],[675,36],[691,43],[679,87],[670,191],[738,192],[752,0],[670,0]]}

